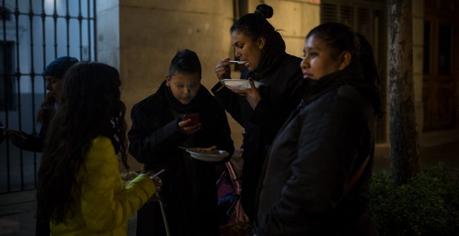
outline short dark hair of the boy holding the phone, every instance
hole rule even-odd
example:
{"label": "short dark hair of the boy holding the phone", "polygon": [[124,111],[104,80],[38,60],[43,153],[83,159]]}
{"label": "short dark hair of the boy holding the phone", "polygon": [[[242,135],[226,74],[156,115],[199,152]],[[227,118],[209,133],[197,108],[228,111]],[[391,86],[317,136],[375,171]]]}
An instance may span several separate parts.
{"label": "short dark hair of the boy holding the phone", "polygon": [[201,76],[201,62],[198,55],[190,49],[177,51],[174,58],[170,61],[169,77],[177,73],[198,74]]}

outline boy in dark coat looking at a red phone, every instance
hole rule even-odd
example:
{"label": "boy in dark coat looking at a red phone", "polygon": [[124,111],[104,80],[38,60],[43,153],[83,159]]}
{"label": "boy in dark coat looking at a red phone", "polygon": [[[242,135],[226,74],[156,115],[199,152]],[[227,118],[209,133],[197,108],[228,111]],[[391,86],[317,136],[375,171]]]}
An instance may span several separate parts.
{"label": "boy in dark coat looking at a red phone", "polygon": [[[166,81],[156,93],[136,103],[131,111],[129,151],[145,170],[159,171],[170,235],[220,235],[215,165],[234,153],[225,110],[200,83],[201,65],[195,52],[177,52]],[[200,123],[189,126],[185,114],[198,113]],[[224,150],[220,162],[196,160],[178,146]],[[137,214],[137,235],[166,235],[157,201]]]}

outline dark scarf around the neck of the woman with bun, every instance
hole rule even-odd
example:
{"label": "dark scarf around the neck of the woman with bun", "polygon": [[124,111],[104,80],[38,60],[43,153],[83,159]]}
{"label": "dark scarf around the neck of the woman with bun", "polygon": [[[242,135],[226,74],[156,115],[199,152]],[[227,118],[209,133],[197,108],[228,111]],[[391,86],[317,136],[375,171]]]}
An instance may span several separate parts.
{"label": "dark scarf around the neck of the woman with bun", "polygon": [[260,62],[257,69],[255,69],[255,71],[251,71],[249,77],[259,81],[260,78],[264,78],[266,75],[272,74],[286,54],[285,42],[282,40],[282,36],[277,31],[273,32],[270,40],[266,40],[265,48],[261,52]]}

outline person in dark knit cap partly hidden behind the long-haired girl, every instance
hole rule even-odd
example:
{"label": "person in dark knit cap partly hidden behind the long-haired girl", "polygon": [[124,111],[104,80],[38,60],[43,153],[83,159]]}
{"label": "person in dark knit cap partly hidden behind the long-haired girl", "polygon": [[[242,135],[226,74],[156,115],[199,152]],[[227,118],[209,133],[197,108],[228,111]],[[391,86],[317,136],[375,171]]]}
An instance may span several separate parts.
{"label": "person in dark knit cap partly hidden behind the long-haired girl", "polygon": [[[38,110],[37,122],[41,124],[38,135],[29,135],[21,130],[11,130],[6,128],[4,133],[10,138],[11,142],[19,149],[26,151],[43,151],[43,142],[45,140],[49,123],[56,112],[59,96],[62,90],[62,78],[65,71],[78,62],[77,58],[62,56],[53,60],[43,71],[45,76],[46,90],[45,100]],[[48,232],[49,233],[49,232]],[[45,234],[47,235],[47,234]]]}

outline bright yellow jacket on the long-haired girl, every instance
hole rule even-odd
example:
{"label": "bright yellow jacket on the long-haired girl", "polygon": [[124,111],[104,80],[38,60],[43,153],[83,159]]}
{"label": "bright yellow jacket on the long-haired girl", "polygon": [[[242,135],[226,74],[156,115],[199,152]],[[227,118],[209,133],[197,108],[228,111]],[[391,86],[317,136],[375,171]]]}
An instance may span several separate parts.
{"label": "bright yellow jacket on the long-haired girl", "polygon": [[59,224],[51,221],[51,235],[127,235],[128,219],[155,192],[153,181],[145,174],[123,185],[115,149],[102,136],[92,140],[77,182],[81,187],[72,189],[77,202],[74,215],[68,214]]}

